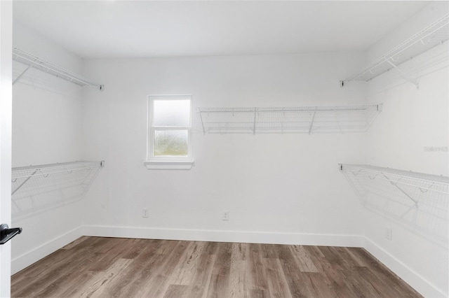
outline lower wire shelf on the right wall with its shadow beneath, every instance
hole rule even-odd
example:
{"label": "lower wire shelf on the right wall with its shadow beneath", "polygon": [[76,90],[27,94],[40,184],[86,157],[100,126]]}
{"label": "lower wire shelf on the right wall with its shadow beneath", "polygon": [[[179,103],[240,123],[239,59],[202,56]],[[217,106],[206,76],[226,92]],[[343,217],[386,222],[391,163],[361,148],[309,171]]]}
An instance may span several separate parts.
{"label": "lower wire shelf on the right wall with its shadow beneath", "polygon": [[363,206],[448,248],[448,177],[356,165],[343,173]]}

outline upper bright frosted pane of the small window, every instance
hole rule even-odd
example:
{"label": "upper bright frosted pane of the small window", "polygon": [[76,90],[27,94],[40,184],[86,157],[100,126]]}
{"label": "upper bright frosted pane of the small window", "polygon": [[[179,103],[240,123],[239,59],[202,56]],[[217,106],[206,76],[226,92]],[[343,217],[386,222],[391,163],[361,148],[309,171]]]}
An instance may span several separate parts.
{"label": "upper bright frosted pane of the small window", "polygon": [[154,100],[153,125],[160,127],[188,127],[190,101],[188,99]]}

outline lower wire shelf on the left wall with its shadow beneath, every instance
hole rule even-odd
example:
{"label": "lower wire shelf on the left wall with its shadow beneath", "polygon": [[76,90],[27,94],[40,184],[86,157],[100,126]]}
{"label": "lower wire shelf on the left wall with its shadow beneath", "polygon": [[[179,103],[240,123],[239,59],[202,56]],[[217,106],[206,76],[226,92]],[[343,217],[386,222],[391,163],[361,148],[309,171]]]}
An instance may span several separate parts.
{"label": "lower wire shelf on the left wall with its shadow beneath", "polygon": [[14,168],[12,206],[14,220],[79,201],[88,192],[102,162],[67,162]]}

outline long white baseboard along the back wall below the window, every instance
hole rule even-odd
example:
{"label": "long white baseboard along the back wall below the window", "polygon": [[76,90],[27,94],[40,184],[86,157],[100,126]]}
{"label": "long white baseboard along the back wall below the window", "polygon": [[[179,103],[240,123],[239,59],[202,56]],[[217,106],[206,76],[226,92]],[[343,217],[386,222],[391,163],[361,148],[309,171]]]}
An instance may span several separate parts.
{"label": "long white baseboard along the back wall below the window", "polygon": [[83,227],[83,235],[186,241],[301,244],[311,246],[362,247],[363,245],[363,237],[358,235],[236,232],[143,227],[85,226]]}

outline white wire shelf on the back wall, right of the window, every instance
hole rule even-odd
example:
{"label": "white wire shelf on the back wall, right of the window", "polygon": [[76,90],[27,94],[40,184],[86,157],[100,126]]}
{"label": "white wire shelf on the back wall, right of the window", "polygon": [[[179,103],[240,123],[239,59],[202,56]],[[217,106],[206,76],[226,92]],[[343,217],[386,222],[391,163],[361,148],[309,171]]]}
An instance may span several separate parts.
{"label": "white wire shelf on the back wall, right of the window", "polygon": [[203,133],[366,132],[382,111],[372,106],[198,108]]}

